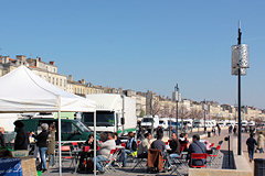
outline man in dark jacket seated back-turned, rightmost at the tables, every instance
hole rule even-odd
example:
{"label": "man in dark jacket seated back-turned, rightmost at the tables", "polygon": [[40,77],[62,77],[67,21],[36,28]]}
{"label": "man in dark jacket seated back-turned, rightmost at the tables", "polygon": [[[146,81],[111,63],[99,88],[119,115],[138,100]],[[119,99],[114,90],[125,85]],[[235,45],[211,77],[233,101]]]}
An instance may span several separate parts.
{"label": "man in dark jacket seated back-turned, rightmost at the tables", "polygon": [[[200,142],[200,135],[198,134],[194,134],[192,136],[192,143],[190,144],[190,147],[188,150],[188,154],[189,154],[189,158],[191,158],[191,154],[192,153],[206,153],[206,146]],[[190,165],[194,165],[194,166],[202,166],[205,164],[205,160],[192,160],[192,163],[191,163],[191,160],[190,160]]]}

